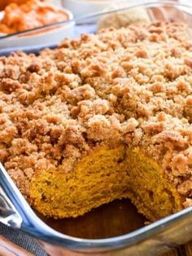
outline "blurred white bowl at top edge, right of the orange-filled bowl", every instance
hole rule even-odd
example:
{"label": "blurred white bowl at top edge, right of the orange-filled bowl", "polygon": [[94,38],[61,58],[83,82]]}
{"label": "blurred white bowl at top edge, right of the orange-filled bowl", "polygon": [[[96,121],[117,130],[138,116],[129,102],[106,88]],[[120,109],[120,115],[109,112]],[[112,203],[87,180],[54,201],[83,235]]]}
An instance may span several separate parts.
{"label": "blurred white bowl at top edge, right of the orange-filled bowl", "polygon": [[103,11],[109,4],[120,2],[120,0],[62,0],[62,2],[63,7],[72,11],[72,14],[76,18]]}

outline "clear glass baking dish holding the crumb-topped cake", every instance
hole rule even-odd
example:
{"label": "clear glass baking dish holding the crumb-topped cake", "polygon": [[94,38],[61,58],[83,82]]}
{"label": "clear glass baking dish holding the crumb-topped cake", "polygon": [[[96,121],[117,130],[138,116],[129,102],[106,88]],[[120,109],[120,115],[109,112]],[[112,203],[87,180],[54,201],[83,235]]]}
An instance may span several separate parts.
{"label": "clear glass baking dish holding the crumb-topped cake", "polygon": [[[107,11],[90,14],[68,22],[73,24],[74,37],[76,37],[79,33],[96,32],[98,20],[102,16],[117,11],[137,11],[137,8],[144,9],[151,21],[177,21],[188,24],[190,28],[192,26],[192,6],[176,1],[119,3],[117,6],[107,7]],[[58,25],[53,24],[51,26],[54,28]],[[41,32],[41,29],[44,28],[33,30]],[[0,41],[14,40],[21,34],[28,36],[28,33],[31,33],[31,30],[0,38]],[[190,33],[191,30],[189,29],[189,36],[191,36]],[[41,46],[34,49],[23,47],[23,50],[37,53],[40,48]],[[14,49],[1,51],[0,54],[7,55],[10,51],[14,51]],[[192,207],[155,223],[142,225],[142,227],[123,235],[100,239],[78,238],[63,234],[49,227],[42,219],[31,209],[7,171],[0,164],[0,221],[33,236],[49,255],[158,255],[192,239]],[[110,219],[107,221],[110,222]]]}

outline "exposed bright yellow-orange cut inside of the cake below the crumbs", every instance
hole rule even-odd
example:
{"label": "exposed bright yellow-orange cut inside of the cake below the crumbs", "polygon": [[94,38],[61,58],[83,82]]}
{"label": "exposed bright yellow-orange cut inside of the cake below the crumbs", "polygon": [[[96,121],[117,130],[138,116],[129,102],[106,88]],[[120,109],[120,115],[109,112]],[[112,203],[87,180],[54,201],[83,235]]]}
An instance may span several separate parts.
{"label": "exposed bright yellow-orange cut inside of the cake below the crumbs", "polygon": [[138,212],[155,221],[182,209],[181,196],[141,148],[102,146],[72,171],[46,170],[30,189],[33,206],[53,218],[76,217],[99,205],[129,198]]}

